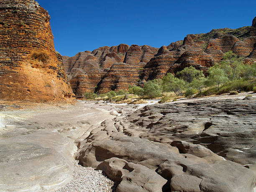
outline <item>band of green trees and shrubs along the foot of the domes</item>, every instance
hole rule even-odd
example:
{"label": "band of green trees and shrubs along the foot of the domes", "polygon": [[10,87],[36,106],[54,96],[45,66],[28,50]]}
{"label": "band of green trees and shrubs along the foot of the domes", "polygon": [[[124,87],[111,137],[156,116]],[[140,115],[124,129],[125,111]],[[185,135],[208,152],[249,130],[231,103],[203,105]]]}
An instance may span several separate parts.
{"label": "band of green trees and shrubs along the foot of the domes", "polygon": [[[194,67],[185,67],[176,75],[167,73],[161,79],[149,80],[143,87],[129,86],[128,91],[110,91],[105,94],[84,93],[86,99],[100,99],[120,102],[129,98],[157,98],[160,102],[167,102],[177,98],[170,97],[170,93],[177,96],[195,97],[223,94],[232,91],[253,91],[256,86],[256,63],[244,64],[243,58],[232,51],[224,55],[224,59],[210,67],[205,74]],[[254,88],[255,89],[255,88]]]}

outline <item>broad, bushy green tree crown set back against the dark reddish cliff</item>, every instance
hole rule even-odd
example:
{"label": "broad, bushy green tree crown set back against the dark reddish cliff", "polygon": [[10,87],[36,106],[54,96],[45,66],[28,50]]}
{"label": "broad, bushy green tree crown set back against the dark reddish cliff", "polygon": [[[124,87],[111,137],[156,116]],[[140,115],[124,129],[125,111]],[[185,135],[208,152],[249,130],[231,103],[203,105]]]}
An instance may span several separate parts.
{"label": "broad, bushy green tree crown set back against the dark reddish cliff", "polygon": [[188,83],[191,83],[195,78],[205,77],[202,71],[197,70],[192,66],[185,67],[182,71],[177,72],[177,76]]}

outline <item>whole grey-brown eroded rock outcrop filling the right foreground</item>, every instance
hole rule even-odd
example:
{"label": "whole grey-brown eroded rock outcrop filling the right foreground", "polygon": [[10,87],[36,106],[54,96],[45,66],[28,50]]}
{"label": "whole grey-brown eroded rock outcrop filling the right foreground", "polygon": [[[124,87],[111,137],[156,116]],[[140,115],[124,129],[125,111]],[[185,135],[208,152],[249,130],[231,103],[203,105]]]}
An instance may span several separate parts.
{"label": "whole grey-brown eroded rock outcrop filling the right foreground", "polygon": [[119,181],[118,191],[251,192],[256,182],[254,101],[148,105],[92,128],[77,141],[75,156]]}

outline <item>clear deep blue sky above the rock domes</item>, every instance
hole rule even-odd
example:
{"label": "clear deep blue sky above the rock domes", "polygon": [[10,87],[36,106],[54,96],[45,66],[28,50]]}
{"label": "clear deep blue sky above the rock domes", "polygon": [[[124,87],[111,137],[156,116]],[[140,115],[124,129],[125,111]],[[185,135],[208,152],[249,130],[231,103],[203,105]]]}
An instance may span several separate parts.
{"label": "clear deep blue sky above the rock domes", "polygon": [[251,26],[256,0],[38,0],[51,16],[56,51],[121,43],[161,47],[187,34]]}

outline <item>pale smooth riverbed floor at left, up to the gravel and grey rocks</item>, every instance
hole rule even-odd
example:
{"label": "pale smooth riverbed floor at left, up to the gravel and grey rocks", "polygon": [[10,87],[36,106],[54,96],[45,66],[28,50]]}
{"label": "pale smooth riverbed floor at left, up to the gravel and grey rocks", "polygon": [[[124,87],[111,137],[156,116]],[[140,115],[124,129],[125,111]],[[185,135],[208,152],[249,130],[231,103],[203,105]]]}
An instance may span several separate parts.
{"label": "pale smooth riverbed floor at left, up to the gravel and grey rocks", "polygon": [[90,126],[113,118],[110,107],[85,102],[38,105],[0,111],[0,191],[55,191],[64,186],[72,179],[74,141]]}

